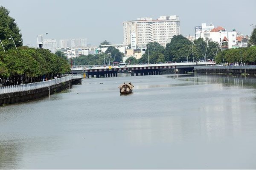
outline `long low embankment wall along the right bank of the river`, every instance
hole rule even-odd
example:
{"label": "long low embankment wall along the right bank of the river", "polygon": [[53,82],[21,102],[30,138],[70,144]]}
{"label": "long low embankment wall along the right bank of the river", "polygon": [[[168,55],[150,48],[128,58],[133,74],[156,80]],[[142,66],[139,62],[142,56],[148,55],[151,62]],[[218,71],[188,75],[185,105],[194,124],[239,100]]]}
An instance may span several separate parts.
{"label": "long low embankment wall along the right bank of the river", "polygon": [[195,66],[196,73],[256,74],[256,65]]}

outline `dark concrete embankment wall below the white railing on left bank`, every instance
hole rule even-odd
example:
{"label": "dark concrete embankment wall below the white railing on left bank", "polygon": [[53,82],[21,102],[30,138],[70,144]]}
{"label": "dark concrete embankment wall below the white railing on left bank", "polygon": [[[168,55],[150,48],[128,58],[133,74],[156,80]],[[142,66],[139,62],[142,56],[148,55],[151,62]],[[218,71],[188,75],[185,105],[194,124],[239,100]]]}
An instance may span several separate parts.
{"label": "dark concrete embankment wall below the white railing on left bank", "polygon": [[13,103],[26,102],[33,99],[38,99],[49,94],[60,92],[64,89],[71,88],[71,80],[61,82],[46,88],[39,88],[29,91],[20,91],[15,93],[0,94],[0,106],[9,105]]}

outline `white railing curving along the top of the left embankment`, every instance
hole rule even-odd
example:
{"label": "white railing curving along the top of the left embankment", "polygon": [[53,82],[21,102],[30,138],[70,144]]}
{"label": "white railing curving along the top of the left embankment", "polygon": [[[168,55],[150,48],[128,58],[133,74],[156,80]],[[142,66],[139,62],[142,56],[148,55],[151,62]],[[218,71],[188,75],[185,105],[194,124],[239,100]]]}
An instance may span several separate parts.
{"label": "white railing curving along the top of the left embankment", "polygon": [[27,83],[27,84],[20,84],[20,85],[12,85],[12,86],[4,86],[0,87],[0,94],[7,94],[7,93],[14,93],[14,92],[20,92],[20,91],[29,91],[29,90],[35,90],[39,88],[45,88],[52,85],[57,85],[61,82],[67,82],[72,79],[72,76],[67,77],[61,77],[58,79],[52,79],[44,82],[33,82],[33,83]]}

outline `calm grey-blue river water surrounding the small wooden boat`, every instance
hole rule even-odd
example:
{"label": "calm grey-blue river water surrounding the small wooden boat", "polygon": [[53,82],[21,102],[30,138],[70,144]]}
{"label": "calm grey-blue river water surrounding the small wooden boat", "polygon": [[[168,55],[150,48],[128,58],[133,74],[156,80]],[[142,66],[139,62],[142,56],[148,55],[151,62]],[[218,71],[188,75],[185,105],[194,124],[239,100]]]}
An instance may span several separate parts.
{"label": "calm grey-blue river water surrounding the small wooden boat", "polygon": [[[119,94],[124,81],[133,94]],[[255,78],[83,79],[0,107],[0,169],[255,168]]]}

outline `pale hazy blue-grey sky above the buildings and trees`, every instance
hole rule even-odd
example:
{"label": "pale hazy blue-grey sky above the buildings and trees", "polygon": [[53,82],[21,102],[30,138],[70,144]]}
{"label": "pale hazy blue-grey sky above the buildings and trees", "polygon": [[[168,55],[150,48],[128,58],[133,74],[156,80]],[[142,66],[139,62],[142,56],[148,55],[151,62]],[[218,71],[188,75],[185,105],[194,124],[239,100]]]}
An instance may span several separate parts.
{"label": "pale hazy blue-grey sky above the buildings and trees", "polygon": [[256,0],[0,0],[19,26],[24,45],[45,39],[87,38],[88,44],[123,42],[122,22],[138,17],[180,17],[183,36],[194,27],[213,23],[250,35],[256,25]]}

